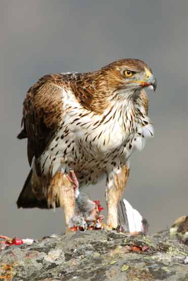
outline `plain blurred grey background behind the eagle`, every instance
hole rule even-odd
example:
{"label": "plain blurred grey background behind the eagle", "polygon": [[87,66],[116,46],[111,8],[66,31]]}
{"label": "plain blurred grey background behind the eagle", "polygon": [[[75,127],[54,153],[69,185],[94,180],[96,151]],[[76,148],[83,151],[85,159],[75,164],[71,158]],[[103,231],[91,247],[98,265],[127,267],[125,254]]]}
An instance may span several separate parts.
{"label": "plain blurred grey background behind the eagle", "polygon": [[[0,3],[0,234],[40,238],[64,231],[60,209],[17,209],[29,171],[18,141],[27,89],[44,74],[87,72],[118,58],[152,67],[155,137],[131,157],[125,197],[151,232],[188,215],[188,2],[176,0],[8,0]],[[105,182],[85,188],[104,205]]]}

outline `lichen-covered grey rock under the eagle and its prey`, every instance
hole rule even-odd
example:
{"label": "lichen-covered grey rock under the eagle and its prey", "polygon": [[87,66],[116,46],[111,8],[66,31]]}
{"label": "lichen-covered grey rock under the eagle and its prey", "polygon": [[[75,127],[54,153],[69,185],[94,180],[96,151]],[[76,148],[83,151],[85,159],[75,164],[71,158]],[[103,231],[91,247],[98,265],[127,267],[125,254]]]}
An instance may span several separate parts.
{"label": "lichen-covered grey rock under the eagle and its prey", "polygon": [[130,236],[72,232],[0,251],[0,280],[188,281],[188,247],[169,231]]}

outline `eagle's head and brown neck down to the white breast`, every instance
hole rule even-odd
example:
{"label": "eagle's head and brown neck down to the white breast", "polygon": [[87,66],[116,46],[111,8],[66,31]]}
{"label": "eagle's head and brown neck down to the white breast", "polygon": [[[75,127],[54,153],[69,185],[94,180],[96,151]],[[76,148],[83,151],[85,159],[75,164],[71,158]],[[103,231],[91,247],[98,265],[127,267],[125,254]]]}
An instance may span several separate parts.
{"label": "eagle's head and brown neck down to the white breast", "polygon": [[84,108],[101,113],[117,100],[139,96],[144,87],[156,90],[157,81],[151,68],[139,59],[120,59],[99,71],[78,74],[71,83]]}

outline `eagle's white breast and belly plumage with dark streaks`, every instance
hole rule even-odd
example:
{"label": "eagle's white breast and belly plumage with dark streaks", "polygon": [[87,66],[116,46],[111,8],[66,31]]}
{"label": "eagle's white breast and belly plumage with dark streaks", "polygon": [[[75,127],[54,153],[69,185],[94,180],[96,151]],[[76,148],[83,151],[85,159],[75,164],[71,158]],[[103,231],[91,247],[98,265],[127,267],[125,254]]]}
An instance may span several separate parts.
{"label": "eagle's white breast and belly plumage with dark streaks", "polygon": [[50,167],[52,176],[72,167],[81,186],[96,183],[106,169],[126,163],[132,151],[142,149],[145,138],[153,136],[153,126],[142,106],[141,119],[133,104],[116,103],[110,112],[106,109],[99,115],[83,109],[71,93],[64,100],[62,126],[40,159],[44,174]]}

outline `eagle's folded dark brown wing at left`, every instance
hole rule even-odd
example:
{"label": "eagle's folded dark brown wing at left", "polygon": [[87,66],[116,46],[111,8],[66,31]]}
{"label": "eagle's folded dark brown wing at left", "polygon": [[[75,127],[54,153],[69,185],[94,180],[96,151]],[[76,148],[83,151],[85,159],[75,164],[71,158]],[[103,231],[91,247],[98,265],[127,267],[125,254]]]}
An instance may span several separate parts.
{"label": "eagle's folded dark brown wing at left", "polygon": [[[61,79],[61,85],[57,83]],[[27,137],[27,155],[31,165],[32,158],[39,157],[62,120],[62,75],[46,75],[27,92],[23,103],[23,129],[18,138]]]}

